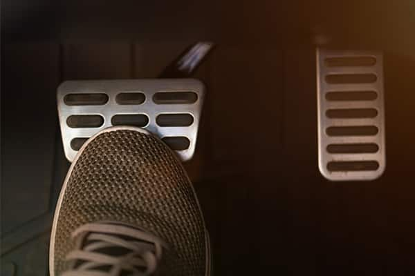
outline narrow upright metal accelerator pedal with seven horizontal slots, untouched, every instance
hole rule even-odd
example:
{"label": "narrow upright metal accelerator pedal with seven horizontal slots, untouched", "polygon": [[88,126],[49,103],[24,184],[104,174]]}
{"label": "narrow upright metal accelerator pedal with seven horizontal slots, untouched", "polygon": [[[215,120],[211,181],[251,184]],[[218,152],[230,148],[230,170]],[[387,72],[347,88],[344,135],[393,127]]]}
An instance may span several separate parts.
{"label": "narrow upright metal accelerator pedal with seven horizontal slots, untouched", "polygon": [[320,172],[333,181],[372,180],[385,170],[380,52],[317,49]]}

